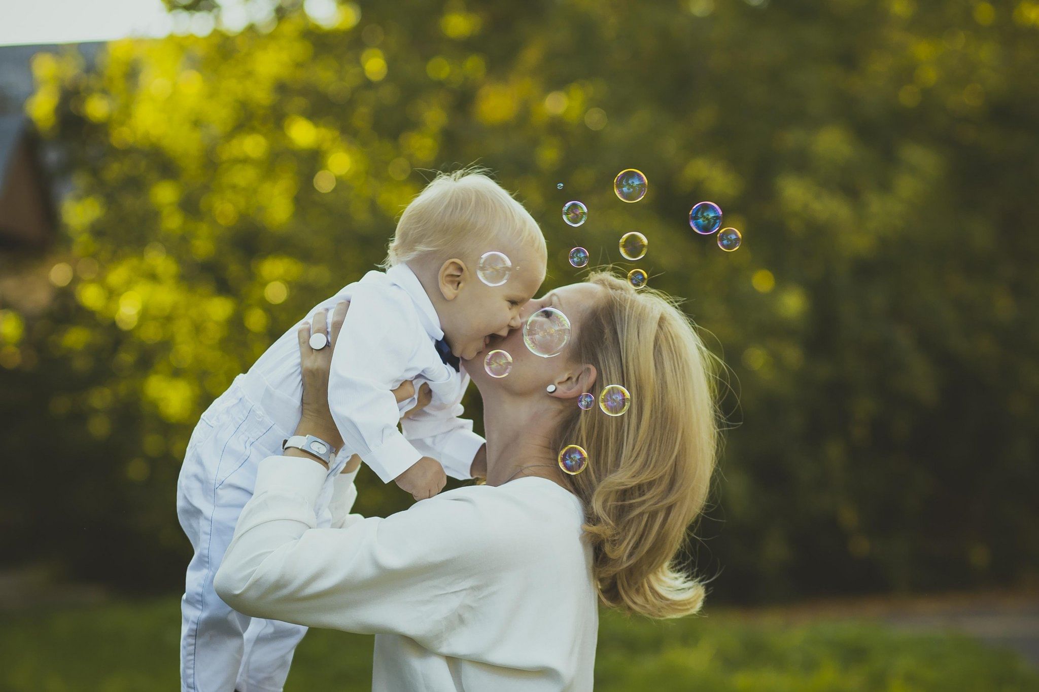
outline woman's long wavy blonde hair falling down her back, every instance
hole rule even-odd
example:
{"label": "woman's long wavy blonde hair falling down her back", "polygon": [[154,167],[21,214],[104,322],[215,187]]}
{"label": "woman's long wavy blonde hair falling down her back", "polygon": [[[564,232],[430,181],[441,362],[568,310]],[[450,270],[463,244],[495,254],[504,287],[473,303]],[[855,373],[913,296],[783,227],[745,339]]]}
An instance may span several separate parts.
{"label": "woman's long wavy blonde hair falling down her back", "polygon": [[604,271],[588,281],[606,295],[581,320],[570,359],[595,366],[596,402],[619,384],[631,408],[613,417],[575,406],[553,442],[588,452],[587,468],[570,480],[585,507],[600,597],[650,617],[692,614],[705,588],[681,572],[678,553],[718,453],[716,357],[665,294]]}

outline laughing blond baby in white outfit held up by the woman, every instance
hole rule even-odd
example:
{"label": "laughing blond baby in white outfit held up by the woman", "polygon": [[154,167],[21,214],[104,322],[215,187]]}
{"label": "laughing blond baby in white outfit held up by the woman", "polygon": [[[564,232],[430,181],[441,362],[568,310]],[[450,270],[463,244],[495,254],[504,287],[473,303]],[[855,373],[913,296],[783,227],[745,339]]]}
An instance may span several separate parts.
{"label": "laughing blond baby in white outfit held up by the woman", "polygon": [[[330,524],[334,482],[353,453],[416,499],[438,493],[445,474],[471,477],[484,440],[472,432],[473,421],[459,418],[469,385],[459,359],[481,357],[491,334],[520,327],[522,306],[544,279],[545,259],[540,228],[509,193],[479,172],[441,173],[404,210],[387,271],[369,272],[314,306],[308,319],[350,301],[328,379],[328,407],[344,444],[331,450],[314,438],[290,442],[328,461],[318,526]],[[307,632],[246,617],[213,590],[257,465],[282,452],[299,421],[297,327],[235,378],[188,443],[177,486],[178,518],[194,549],[181,599],[182,690],[281,690]],[[432,398],[401,419],[417,403],[417,396],[397,402],[393,390],[405,381],[414,381],[416,392],[427,384]]]}

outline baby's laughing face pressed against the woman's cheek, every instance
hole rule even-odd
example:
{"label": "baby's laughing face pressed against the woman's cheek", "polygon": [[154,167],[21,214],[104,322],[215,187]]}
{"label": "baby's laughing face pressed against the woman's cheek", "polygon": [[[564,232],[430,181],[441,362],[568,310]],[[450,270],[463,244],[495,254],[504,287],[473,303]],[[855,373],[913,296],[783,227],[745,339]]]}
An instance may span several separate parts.
{"label": "baby's laughing face pressed against the woman's cheek", "polygon": [[468,267],[457,297],[444,306],[445,339],[462,360],[482,357],[491,336],[506,336],[520,327],[520,311],[544,281],[545,258],[538,250],[513,249],[508,256],[512,271],[505,283],[488,286],[475,266]]}

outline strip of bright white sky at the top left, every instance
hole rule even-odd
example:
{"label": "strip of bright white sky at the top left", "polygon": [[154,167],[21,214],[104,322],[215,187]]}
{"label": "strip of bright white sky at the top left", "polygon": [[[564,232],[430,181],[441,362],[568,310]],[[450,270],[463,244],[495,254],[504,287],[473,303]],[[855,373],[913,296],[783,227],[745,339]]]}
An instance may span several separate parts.
{"label": "strip of bright white sky at the top left", "polygon": [[[247,3],[247,4],[246,4]],[[270,16],[276,0],[221,0],[221,26],[240,31]],[[335,0],[305,0],[315,21],[332,21]],[[77,44],[169,33],[208,34],[207,15],[169,16],[162,0],[0,0],[0,46]]]}

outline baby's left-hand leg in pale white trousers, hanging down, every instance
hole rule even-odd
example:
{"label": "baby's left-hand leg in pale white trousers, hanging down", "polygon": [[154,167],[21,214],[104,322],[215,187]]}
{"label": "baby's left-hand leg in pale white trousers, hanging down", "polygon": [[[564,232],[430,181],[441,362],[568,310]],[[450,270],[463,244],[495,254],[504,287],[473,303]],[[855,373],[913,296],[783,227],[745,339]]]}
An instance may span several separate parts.
{"label": "baby's left-hand leg in pale white trousers, hanging down", "polygon": [[233,387],[199,421],[178,480],[177,514],[194,549],[181,599],[183,692],[234,689],[250,619],[220,600],[213,577],[252,497],[257,465],[276,453],[283,435],[236,394]]}

